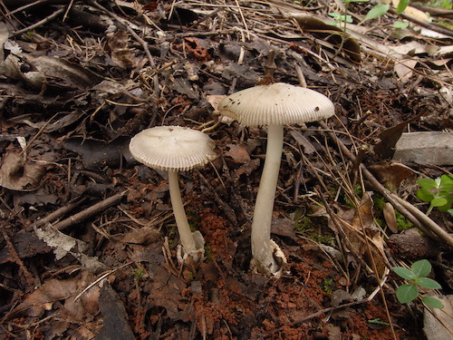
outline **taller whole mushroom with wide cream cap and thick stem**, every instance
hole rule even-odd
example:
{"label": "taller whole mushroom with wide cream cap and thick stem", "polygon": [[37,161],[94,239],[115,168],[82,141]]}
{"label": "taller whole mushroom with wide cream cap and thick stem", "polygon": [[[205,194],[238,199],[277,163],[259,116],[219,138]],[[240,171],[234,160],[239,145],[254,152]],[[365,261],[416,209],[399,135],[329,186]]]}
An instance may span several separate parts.
{"label": "taller whole mushroom with wide cream cap and thick stem", "polygon": [[[252,264],[266,276],[280,276],[284,254],[271,239],[284,124],[320,121],[334,113],[333,102],[320,92],[287,83],[258,85],[226,97],[217,106],[221,115],[243,126],[267,126],[265,166],[256,196],[252,222]],[[277,261],[275,257],[280,257]]]}

